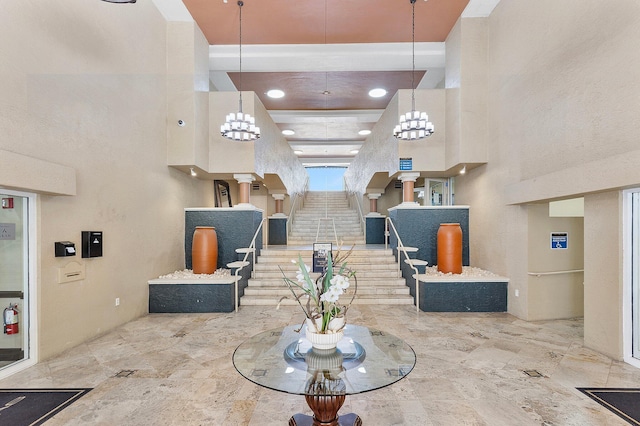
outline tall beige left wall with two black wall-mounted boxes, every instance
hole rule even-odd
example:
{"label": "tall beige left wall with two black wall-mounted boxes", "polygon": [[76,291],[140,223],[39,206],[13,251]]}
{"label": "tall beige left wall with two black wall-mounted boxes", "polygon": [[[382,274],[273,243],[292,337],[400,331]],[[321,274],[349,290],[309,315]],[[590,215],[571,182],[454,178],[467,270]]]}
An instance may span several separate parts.
{"label": "tall beige left wall with two black wall-mounted boxes", "polygon": [[[0,28],[0,149],[71,170],[77,186],[39,196],[45,359],[144,315],[147,280],[184,268],[183,209],[212,194],[167,167],[167,23],[151,2],[6,0]],[[58,284],[54,242],[80,247],[83,230],[104,232],[104,255],[76,256],[86,279]]]}

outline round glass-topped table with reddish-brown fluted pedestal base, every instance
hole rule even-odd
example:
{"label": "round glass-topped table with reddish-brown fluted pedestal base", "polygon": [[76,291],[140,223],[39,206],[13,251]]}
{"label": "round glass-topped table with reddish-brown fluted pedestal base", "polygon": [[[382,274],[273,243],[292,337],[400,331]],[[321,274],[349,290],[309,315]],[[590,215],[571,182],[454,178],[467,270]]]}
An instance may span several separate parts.
{"label": "round glass-topped table with reddish-brown fluted pedestal base", "polygon": [[262,387],[304,395],[314,415],[295,414],[290,426],[361,425],[356,414],[341,415],[347,395],[389,386],[416,363],[411,346],[384,331],[350,325],[335,349],[315,349],[287,326],[257,334],[233,353],[236,370]]}

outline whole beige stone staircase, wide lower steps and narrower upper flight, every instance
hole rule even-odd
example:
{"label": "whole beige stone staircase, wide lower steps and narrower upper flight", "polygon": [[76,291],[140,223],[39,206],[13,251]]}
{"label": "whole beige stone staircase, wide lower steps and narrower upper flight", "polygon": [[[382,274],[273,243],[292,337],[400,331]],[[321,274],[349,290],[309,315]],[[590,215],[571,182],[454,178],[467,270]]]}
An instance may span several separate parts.
{"label": "whole beige stone staircase, wide lower steps and narrower upper flight", "polygon": [[[254,277],[249,279],[240,299],[240,305],[269,305],[276,306],[282,297],[282,305],[295,305],[297,302],[291,297],[291,292],[283,280],[283,272],[295,281],[297,265],[291,260],[301,256],[303,261],[311,266],[313,260],[312,243],[318,232],[318,219],[333,218],[335,221],[338,241],[342,241],[342,250],[348,251],[355,245],[347,258],[348,266],[356,272],[358,288],[353,304],[388,304],[412,305],[413,297],[409,294],[404,278],[398,274],[398,264],[391,249],[384,246],[369,247],[364,244],[364,233],[360,227],[358,213],[348,206],[344,192],[309,192],[305,198],[304,207],[295,216],[292,233],[287,247],[272,246],[260,252],[255,268]],[[338,249],[335,245],[333,222],[321,220],[318,242],[333,242],[334,255]],[[329,230],[323,230],[322,222],[330,223]],[[323,232],[327,232],[326,236]],[[360,246],[358,246],[360,245]],[[294,247],[297,246],[297,247]],[[300,247],[303,246],[303,247]],[[282,268],[282,271],[280,270]],[[312,279],[320,274],[310,274]],[[345,303],[351,298],[342,296]]]}

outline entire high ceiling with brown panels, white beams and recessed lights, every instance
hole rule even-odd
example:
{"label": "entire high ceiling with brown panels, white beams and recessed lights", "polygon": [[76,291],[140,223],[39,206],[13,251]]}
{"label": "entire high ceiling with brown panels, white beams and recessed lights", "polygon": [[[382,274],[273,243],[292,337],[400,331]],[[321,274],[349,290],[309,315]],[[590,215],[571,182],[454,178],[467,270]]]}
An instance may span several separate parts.
{"label": "entire high ceiling with brown panels, white beams and recessed lights", "polygon": [[398,89],[442,87],[451,28],[468,3],[465,16],[497,1],[417,0],[412,75],[410,0],[183,0],[210,45],[212,90],[254,91],[307,165],[348,165]]}

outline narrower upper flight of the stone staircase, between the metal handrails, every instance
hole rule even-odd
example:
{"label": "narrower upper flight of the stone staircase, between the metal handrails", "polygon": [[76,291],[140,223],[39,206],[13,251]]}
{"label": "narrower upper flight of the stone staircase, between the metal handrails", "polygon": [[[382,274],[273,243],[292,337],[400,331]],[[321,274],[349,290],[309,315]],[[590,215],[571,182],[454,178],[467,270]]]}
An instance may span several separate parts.
{"label": "narrower upper flight of the stone staircase, between the metal handrails", "polygon": [[296,212],[291,224],[289,245],[336,243],[336,237],[338,242],[343,242],[343,247],[364,244],[360,217],[349,207],[347,194],[341,191],[307,192],[304,205]]}

